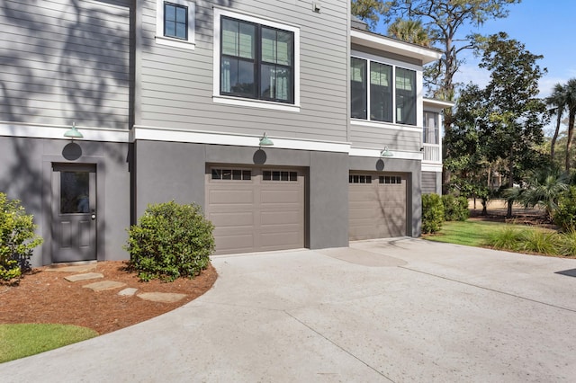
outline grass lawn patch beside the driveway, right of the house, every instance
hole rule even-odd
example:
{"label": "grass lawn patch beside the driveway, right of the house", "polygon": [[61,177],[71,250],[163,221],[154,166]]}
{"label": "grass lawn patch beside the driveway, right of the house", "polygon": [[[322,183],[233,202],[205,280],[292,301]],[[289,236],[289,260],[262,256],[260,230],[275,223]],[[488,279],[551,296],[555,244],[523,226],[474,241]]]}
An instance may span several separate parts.
{"label": "grass lawn patch beside the driveway, right of the house", "polygon": [[[440,232],[433,235],[426,235],[424,238],[430,241],[446,242],[448,244],[481,247],[482,245],[486,245],[488,238],[492,234],[497,234],[505,227],[511,227],[511,225],[500,222],[473,220],[444,222]],[[533,229],[533,227],[518,225],[518,230],[521,229],[530,230]]]}

